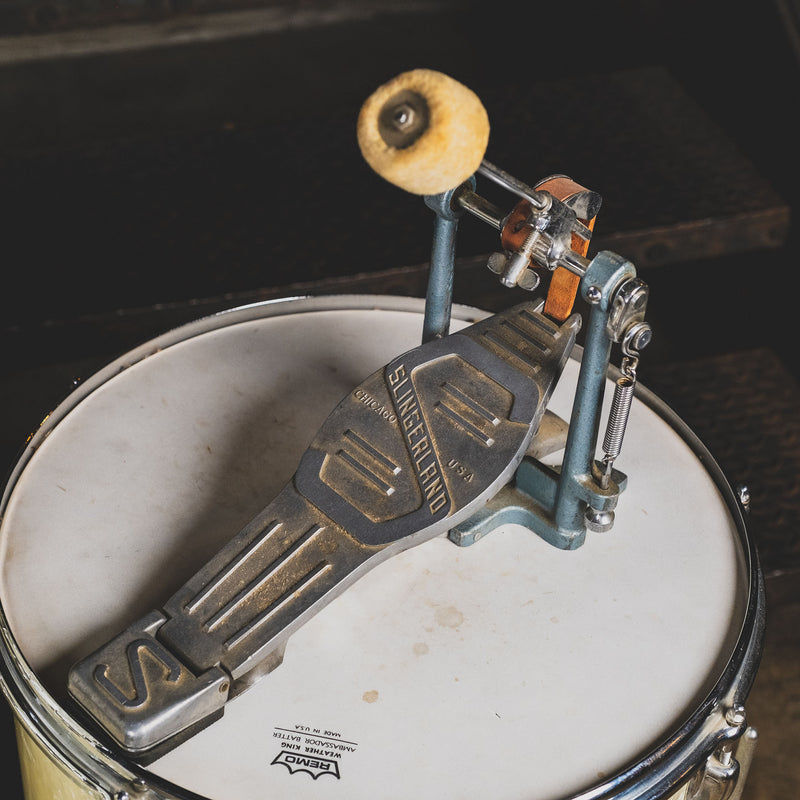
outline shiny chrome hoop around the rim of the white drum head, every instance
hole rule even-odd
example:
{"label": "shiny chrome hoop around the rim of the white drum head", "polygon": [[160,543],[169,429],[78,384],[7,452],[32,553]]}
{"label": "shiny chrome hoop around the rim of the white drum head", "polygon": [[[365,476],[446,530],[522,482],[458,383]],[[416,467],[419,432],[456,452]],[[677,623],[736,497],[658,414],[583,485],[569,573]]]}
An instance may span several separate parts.
{"label": "shiny chrome hoop around the rim of the white drum head", "polygon": [[[14,465],[0,499],[3,518],[11,493],[40,444],[60,421],[93,391],[120,372],[158,352],[204,333],[221,330],[252,320],[324,311],[379,310],[421,314],[422,298],[391,295],[297,296],[237,306],[200,317],[173,328],[111,361],[95,372],[59,403],[29,438]],[[454,304],[454,319],[476,322],[490,312]],[[576,345],[572,358],[580,361],[582,350]],[[612,369],[610,377],[616,378]],[[746,520],[736,495],[722,469],[706,446],[686,423],[661,398],[641,383],[636,397],[677,433],[703,463],[725,506],[731,513],[749,578],[745,616],[736,645],[714,687],[688,719],[667,736],[663,743],[594,788],[573,795],[569,800],[657,800],[667,797],[685,783],[703,757],[725,739],[740,732],[725,723],[725,712],[744,701],[755,680],[764,636],[764,582],[758,554],[748,534]],[[133,781],[142,780],[151,790],[150,797],[164,800],[207,800],[190,790],[151,773],[124,756],[112,752],[87,731],[68,710],[59,705],[27,663],[11,631],[0,601],[0,688],[11,705],[19,724],[55,763],[75,780],[99,795],[123,797]],[[156,794],[153,795],[152,793]]]}

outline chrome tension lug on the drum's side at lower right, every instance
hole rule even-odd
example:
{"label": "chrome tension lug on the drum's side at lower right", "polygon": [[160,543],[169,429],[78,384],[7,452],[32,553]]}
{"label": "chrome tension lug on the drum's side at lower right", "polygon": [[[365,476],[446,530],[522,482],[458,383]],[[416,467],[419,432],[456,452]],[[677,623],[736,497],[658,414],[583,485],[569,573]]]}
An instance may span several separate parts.
{"label": "chrome tension lug on the drum's side at lower right", "polygon": [[728,712],[726,722],[739,724],[740,732],[706,759],[687,785],[686,800],[741,800],[758,739],[756,729],[745,727],[744,719],[741,706]]}

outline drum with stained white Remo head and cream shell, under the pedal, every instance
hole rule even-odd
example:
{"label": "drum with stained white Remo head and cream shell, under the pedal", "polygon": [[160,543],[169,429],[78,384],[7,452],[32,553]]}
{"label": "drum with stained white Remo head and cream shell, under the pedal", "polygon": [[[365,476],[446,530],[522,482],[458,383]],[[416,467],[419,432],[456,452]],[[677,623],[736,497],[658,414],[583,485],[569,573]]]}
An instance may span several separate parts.
{"label": "drum with stained white Remo head and cream shell, under the pedal", "polygon": [[[28,800],[684,797],[712,753],[725,761],[760,650],[760,573],[713,459],[645,390],[616,524],[580,549],[508,525],[390,558],[146,768],[72,713],[70,665],[278,493],[329,410],[419,343],[422,311],[340,297],[202,319],[82,383],[34,435],[0,528]],[[457,307],[453,328],[482,316]],[[564,418],[576,378],[572,359],[550,403]]]}

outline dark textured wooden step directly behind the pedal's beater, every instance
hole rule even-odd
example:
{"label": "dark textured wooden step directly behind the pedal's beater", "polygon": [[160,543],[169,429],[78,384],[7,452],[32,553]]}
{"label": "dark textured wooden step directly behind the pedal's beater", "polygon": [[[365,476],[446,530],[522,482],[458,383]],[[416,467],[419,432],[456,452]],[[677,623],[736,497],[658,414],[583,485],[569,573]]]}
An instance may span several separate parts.
{"label": "dark textured wooden step directly behind the pedal's beater", "polygon": [[[786,242],[787,203],[661,68],[482,95],[497,120],[487,157],[529,183],[569,170],[603,195],[590,253],[611,249],[647,272]],[[544,109],[547,127],[537,121]],[[34,344],[124,347],[113,338],[121,311],[192,314],[198,303],[350,287],[424,293],[432,212],[363,163],[357,110],[331,111],[324,124],[315,116],[0,159],[13,198],[4,241],[16,288],[0,297],[12,364],[47,358]],[[487,183],[479,178],[479,190],[510,210],[515,198]],[[496,232],[463,220],[462,263],[495,249]],[[496,292],[472,266],[457,284],[465,301]]]}

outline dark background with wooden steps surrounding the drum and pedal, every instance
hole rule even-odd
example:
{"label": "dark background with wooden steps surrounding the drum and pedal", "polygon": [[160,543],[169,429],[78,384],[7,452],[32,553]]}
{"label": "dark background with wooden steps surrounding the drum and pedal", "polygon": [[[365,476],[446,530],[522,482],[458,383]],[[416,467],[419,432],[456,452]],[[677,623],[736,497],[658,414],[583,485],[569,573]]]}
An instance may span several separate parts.
{"label": "dark background with wooden steps surrounding the drum and pedal", "polygon": [[[799,18],[791,0],[0,0],[0,468],[73,380],[183,321],[421,296],[431,212],[362,162],[355,119],[395,74],[442,70],[483,100],[487,158],[603,196],[590,254],[651,287],[644,382],[751,489],[769,624],[745,798],[793,796]],[[457,301],[521,299],[484,268],[496,248],[462,224]]]}

